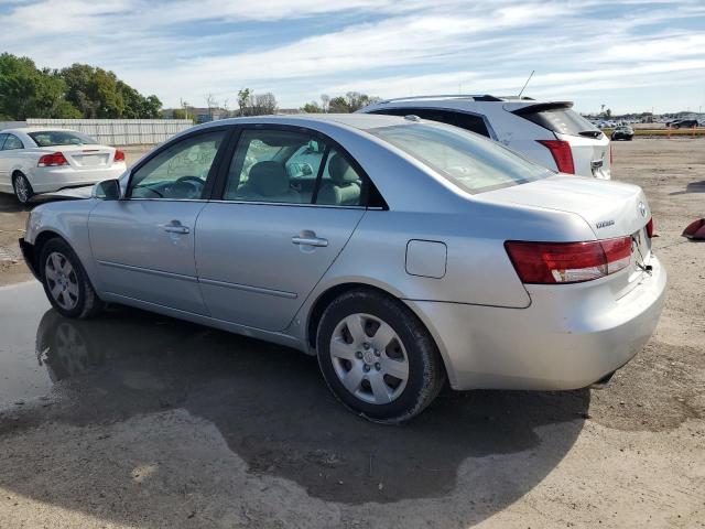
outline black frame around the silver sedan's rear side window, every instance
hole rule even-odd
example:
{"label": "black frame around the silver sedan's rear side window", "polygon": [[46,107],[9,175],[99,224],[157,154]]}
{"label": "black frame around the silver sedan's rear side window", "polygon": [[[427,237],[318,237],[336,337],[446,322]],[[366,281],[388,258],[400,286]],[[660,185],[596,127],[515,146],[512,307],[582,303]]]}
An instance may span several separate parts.
{"label": "black frame around the silver sedan's rear side window", "polygon": [[[223,204],[253,204],[253,205],[268,205],[268,206],[289,206],[289,207],[328,207],[328,208],[343,208],[343,209],[389,209],[387,203],[383,201],[382,206],[369,206],[369,197],[371,196],[371,186],[373,186],[373,182],[367,174],[367,172],[362,169],[362,166],[358,163],[358,161],[350,155],[347,149],[345,149],[340,143],[335,141],[333,138],[324,134],[323,132],[311,129],[308,127],[301,127],[295,125],[282,125],[282,123],[242,123],[242,125],[234,125],[234,133],[230,137],[230,142],[228,143],[228,149],[224,152],[223,163],[218,168],[218,175],[215,180],[213,192],[210,194],[209,202],[214,203],[223,203]],[[230,164],[232,163],[232,158],[235,155],[235,151],[240,142],[240,138],[246,130],[279,130],[283,132],[297,132],[300,134],[307,134],[317,140],[323,141],[326,144],[326,151],[330,149],[335,149],[337,152],[345,155],[347,162],[352,166],[352,169],[357,172],[357,174],[362,180],[362,186],[360,190],[360,205],[358,206],[343,206],[335,204],[301,204],[301,203],[291,203],[291,202],[262,202],[262,201],[236,201],[224,198],[225,190],[227,186],[228,172],[230,170]],[[326,152],[324,152],[325,154]],[[322,168],[324,165],[322,164]],[[318,170],[321,174],[321,168]],[[316,179],[318,180],[318,179]],[[377,192],[378,196],[381,197],[379,191]],[[312,197],[313,202],[313,197]]]}

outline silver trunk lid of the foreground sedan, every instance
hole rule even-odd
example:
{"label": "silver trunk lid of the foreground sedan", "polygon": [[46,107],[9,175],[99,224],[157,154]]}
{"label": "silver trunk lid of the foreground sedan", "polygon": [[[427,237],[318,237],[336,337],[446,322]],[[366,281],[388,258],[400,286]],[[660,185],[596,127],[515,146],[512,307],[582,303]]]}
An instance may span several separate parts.
{"label": "silver trunk lid of the foreground sedan", "polygon": [[631,237],[628,271],[608,276],[616,298],[637,287],[638,280],[648,271],[651,239],[647,235],[647,223],[651,210],[643,191],[636,185],[558,174],[481,193],[476,198],[573,213],[589,225],[598,240]]}

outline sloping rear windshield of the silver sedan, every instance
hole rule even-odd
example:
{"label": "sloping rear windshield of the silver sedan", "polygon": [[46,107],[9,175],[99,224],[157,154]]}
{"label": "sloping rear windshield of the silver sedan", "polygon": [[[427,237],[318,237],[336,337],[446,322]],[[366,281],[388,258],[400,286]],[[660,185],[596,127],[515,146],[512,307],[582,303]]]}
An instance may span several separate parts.
{"label": "sloping rear windshield of the silver sedan", "polygon": [[369,129],[468,193],[508,187],[553,174],[491,140],[431,123]]}

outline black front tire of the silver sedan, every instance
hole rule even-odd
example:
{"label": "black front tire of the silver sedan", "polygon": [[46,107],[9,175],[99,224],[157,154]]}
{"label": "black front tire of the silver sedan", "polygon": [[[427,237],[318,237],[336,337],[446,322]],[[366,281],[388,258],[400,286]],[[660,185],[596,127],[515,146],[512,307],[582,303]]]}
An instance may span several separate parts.
{"label": "black front tire of the silver sedan", "polygon": [[[65,274],[63,279],[67,288],[63,289],[58,295],[53,293],[53,290],[56,292],[57,281],[48,276],[51,274],[51,270],[61,267],[54,267],[53,264],[47,266],[50,258],[52,260],[58,259],[59,262],[64,263],[67,261],[70,266],[70,272]],[[65,261],[62,259],[65,259]],[[105,303],[98,298],[98,294],[96,294],[96,291],[90,284],[90,280],[80,260],[64,239],[56,237],[48,240],[42,247],[37,264],[46,298],[48,298],[52,306],[63,316],[82,320],[88,319],[95,316],[105,307]],[[61,288],[58,290],[61,290]]]}

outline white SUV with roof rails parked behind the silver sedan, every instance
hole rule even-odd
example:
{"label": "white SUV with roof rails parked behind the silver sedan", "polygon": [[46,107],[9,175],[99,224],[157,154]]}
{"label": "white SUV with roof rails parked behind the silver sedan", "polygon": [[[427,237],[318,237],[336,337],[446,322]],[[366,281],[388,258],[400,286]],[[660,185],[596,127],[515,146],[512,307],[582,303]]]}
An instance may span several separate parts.
{"label": "white SUV with roof rails parked behind the silver sedan", "polygon": [[359,112],[414,115],[454,125],[553,171],[610,180],[609,138],[572,107],[570,101],[459,95],[388,99]]}

